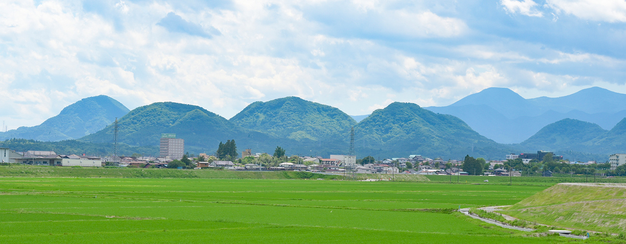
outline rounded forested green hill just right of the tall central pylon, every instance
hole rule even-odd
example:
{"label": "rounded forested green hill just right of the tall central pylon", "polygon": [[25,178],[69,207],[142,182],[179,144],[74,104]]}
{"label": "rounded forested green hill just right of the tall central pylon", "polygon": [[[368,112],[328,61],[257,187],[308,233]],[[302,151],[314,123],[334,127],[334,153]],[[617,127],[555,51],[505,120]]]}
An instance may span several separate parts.
{"label": "rounded forested green hill just right of the tall central pylon", "polygon": [[508,146],[483,137],[457,117],[411,103],[394,102],[377,109],[354,130],[359,151],[371,149],[400,157],[421,154],[462,159],[469,154],[501,158],[511,152]]}

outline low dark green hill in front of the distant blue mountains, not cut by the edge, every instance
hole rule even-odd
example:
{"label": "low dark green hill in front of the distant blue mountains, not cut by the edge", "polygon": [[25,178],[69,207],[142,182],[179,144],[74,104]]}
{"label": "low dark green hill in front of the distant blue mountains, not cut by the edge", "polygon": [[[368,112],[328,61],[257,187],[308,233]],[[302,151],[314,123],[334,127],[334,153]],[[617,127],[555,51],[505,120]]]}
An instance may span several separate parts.
{"label": "low dark green hill in front of the distant blue mountains, not cut by the edge", "polygon": [[600,125],[575,119],[562,119],[546,125],[520,145],[535,150],[582,150],[585,142],[606,134]]}

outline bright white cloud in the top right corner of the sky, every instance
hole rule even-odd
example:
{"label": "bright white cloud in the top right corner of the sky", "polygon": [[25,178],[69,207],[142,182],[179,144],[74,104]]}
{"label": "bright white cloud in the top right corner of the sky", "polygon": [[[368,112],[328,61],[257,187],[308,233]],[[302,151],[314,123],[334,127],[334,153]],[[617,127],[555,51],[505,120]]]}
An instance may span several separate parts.
{"label": "bright white cloud in the top right corner of the sky", "polygon": [[580,19],[626,22],[626,1],[623,0],[548,0],[546,5],[557,13],[572,14]]}

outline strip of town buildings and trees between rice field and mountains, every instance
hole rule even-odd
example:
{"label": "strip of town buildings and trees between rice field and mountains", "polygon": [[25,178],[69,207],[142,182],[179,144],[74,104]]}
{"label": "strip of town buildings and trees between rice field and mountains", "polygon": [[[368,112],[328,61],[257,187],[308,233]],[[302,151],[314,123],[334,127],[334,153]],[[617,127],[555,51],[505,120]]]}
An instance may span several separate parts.
{"label": "strip of town buildings and trees between rice field and mountains", "polygon": [[[553,152],[537,151],[505,155],[506,160],[474,159],[469,155],[464,160],[440,158],[430,159],[422,155],[390,159],[374,159],[367,156],[357,159],[354,155],[329,155],[328,157],[287,157],[285,150],[277,147],[273,155],[254,153],[245,149],[240,154],[234,141],[220,143],[215,154],[185,154],[185,142],[175,134],[163,134],[160,140],[159,157],[143,155],[95,157],[90,155],[61,155],[53,151],[28,150],[15,152],[0,149],[3,163],[42,165],[58,167],[126,167],[126,168],[176,168],[249,171],[300,171],[325,174],[414,174],[414,175],[486,175],[510,176],[540,175],[551,177],[552,173],[594,173],[602,176],[623,175],[621,165],[626,164],[626,154],[610,155],[609,162],[569,162]],[[568,166],[569,165],[569,166]],[[604,172],[597,172],[604,169]],[[612,170],[612,171],[611,171]]]}

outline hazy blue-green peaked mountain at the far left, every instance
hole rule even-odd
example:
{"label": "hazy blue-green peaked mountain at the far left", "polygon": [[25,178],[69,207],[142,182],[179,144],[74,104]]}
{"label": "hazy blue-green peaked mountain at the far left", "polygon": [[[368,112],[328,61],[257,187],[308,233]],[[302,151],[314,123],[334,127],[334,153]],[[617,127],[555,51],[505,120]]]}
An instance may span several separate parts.
{"label": "hazy blue-green peaked mountain at the far left", "polygon": [[106,95],[88,97],[65,107],[59,115],[40,125],[0,132],[0,140],[21,138],[54,142],[78,139],[98,132],[128,111],[123,104]]}

